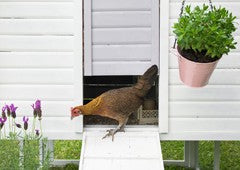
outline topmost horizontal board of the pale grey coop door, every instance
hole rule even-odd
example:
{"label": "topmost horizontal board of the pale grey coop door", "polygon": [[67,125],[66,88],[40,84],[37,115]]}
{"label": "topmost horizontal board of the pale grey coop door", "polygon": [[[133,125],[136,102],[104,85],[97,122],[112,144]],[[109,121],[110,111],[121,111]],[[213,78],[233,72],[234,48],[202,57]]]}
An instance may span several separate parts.
{"label": "topmost horizontal board of the pale grey coop door", "polygon": [[92,0],[93,11],[151,10],[150,0]]}

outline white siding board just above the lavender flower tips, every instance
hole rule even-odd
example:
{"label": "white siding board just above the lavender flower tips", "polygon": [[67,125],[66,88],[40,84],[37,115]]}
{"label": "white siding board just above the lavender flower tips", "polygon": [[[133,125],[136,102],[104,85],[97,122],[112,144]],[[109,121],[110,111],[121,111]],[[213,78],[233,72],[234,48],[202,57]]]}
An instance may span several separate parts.
{"label": "white siding board just above the lavender flower tips", "polygon": [[5,100],[72,101],[73,85],[0,85],[0,98]]}

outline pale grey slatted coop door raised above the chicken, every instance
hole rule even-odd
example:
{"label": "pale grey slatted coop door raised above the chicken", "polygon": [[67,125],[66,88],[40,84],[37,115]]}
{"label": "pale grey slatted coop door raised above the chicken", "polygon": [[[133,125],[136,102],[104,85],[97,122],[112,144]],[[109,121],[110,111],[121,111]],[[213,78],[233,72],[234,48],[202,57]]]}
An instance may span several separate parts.
{"label": "pale grey slatted coop door raised above the chicken", "polygon": [[140,75],[159,63],[159,0],[84,0],[84,74]]}

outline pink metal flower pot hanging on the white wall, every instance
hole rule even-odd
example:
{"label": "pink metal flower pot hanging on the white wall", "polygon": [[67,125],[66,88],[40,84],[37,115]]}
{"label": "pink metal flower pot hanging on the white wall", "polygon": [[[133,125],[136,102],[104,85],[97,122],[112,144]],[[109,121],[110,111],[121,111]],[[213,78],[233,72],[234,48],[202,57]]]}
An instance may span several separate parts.
{"label": "pink metal flower pot hanging on the white wall", "polygon": [[178,52],[175,54],[178,56],[179,76],[185,85],[197,88],[208,84],[219,60],[211,63],[198,63],[184,58]]}

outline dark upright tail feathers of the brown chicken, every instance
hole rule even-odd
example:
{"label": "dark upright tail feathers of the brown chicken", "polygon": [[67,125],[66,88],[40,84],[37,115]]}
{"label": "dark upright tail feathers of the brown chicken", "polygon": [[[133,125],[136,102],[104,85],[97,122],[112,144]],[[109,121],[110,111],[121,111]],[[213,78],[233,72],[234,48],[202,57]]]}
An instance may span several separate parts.
{"label": "dark upright tail feathers of the brown chicken", "polygon": [[154,84],[158,75],[157,65],[151,66],[138,80],[135,88],[148,91]]}

